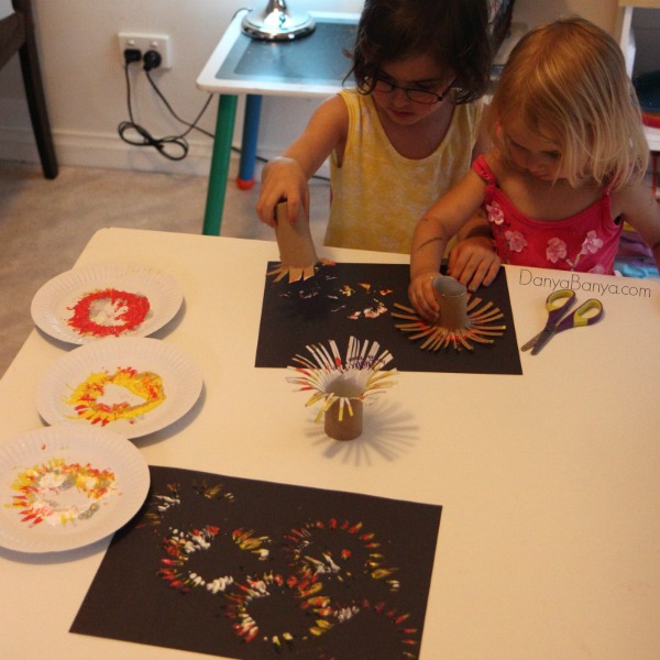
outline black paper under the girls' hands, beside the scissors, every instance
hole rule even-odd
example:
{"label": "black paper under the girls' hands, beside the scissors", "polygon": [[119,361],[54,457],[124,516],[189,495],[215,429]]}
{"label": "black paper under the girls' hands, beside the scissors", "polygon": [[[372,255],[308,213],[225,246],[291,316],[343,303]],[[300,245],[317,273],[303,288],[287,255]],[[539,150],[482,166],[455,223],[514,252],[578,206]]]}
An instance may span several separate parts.
{"label": "black paper under the girls' hands, beside the scissors", "polygon": [[[276,265],[270,263],[268,272]],[[504,268],[490,287],[481,287],[475,296],[501,309],[504,319],[497,323],[506,324],[506,330],[492,344],[475,343],[472,351],[452,346],[422,350],[421,341],[411,341],[396,328],[396,323],[406,321],[391,316],[394,304],[410,307],[409,273],[406,264],[338,263],[319,265],[317,274],[307,280],[289,284],[287,278],[275,282],[266,277],[255,366],[289,366],[296,354],[307,354],[306,345],[329,339],[336,340],[343,352],[353,336],[377,341],[389,350],[392,366],[398,371],[522,373]]]}

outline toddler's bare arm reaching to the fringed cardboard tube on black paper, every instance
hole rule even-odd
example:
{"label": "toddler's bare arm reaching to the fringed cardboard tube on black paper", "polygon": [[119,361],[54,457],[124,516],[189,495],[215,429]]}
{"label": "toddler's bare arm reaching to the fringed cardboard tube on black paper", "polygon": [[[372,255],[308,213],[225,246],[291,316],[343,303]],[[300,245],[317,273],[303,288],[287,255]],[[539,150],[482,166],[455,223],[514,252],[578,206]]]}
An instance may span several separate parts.
{"label": "toddler's bare arm reaching to the fringed cardboard tube on black paper", "polygon": [[410,302],[424,318],[438,316],[432,280],[440,273],[440,262],[451,237],[477,213],[484,200],[485,182],[470,170],[446,193],[417,223],[410,249]]}

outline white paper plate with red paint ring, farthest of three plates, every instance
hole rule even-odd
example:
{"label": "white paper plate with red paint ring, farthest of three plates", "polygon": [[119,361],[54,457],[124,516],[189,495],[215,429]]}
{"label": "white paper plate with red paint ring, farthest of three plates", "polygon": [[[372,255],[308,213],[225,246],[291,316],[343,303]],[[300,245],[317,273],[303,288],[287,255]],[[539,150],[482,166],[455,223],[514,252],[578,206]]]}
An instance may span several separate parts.
{"label": "white paper plate with red paint ring, farthest of three plates", "polygon": [[165,273],[138,264],[95,264],[46,282],[34,295],[31,312],[51,337],[82,344],[151,334],[172,320],[183,299]]}

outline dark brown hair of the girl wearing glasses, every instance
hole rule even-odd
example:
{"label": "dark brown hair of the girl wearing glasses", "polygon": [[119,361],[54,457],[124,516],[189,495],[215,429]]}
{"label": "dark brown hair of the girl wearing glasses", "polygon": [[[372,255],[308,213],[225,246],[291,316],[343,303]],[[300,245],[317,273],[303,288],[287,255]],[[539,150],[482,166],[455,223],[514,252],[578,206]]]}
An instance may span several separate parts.
{"label": "dark brown hair of the girl wearing glasses", "polygon": [[388,62],[431,55],[455,74],[453,99],[473,101],[491,78],[486,0],[366,0],[358,24],[353,66],[358,87]]}

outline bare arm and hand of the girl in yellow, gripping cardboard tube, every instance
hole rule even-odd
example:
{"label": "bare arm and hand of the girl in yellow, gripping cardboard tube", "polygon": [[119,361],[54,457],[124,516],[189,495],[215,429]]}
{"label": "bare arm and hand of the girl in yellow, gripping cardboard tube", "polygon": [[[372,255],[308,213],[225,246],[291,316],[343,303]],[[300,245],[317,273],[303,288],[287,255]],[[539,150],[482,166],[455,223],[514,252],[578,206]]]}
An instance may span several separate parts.
{"label": "bare arm and hand of the girl in yellow, gripping cardboard tube", "polygon": [[275,226],[275,207],[283,199],[288,201],[290,222],[296,221],[299,205],[309,215],[307,182],[333,150],[343,150],[348,125],[346,106],[341,97],[334,96],[318,107],[302,134],[282,156],[264,165],[256,202],[256,212],[263,222]]}

